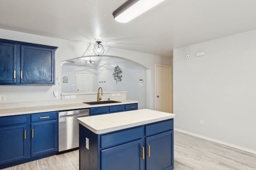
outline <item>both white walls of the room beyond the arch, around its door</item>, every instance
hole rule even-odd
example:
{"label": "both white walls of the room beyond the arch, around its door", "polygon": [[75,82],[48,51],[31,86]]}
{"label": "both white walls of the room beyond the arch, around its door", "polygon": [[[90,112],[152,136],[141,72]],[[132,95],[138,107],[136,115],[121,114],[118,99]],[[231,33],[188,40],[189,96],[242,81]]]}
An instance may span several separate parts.
{"label": "both white walls of the room beyond the arch, around its door", "polygon": [[[116,83],[113,78],[114,67],[122,69],[122,81]],[[92,73],[94,79],[93,91],[102,87],[103,92],[127,91],[126,98],[137,100],[139,109],[146,108],[146,69],[131,61],[115,57],[101,57],[97,67],[62,65],[62,77],[68,77],[68,83],[62,83],[62,92],[76,92],[76,72]],[[140,86],[139,80],[143,80]],[[103,82],[103,83],[102,83]],[[111,99],[111,98],[110,98]]]}

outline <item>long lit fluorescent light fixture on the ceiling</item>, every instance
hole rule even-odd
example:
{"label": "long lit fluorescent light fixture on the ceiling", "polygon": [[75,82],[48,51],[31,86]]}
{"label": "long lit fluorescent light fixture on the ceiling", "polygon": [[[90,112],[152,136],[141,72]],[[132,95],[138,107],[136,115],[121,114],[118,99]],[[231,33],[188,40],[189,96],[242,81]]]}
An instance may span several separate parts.
{"label": "long lit fluorescent light fixture on the ceiling", "polygon": [[113,12],[114,19],[126,23],[164,0],[128,0]]}

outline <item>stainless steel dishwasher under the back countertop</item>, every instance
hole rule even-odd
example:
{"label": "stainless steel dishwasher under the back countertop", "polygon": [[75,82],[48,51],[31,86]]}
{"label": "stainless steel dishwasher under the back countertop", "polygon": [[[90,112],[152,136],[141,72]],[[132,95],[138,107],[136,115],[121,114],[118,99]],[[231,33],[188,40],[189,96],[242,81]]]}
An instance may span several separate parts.
{"label": "stainless steel dishwasher under the back countertop", "polygon": [[79,123],[77,118],[86,116],[89,116],[89,109],[58,112],[59,152],[79,147]]}

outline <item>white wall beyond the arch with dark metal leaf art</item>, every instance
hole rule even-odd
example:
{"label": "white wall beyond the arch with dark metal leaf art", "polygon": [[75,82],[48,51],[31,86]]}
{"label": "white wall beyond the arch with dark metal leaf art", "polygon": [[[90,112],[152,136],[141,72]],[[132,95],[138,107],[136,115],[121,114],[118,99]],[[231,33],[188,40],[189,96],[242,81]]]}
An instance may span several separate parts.
{"label": "white wall beyond the arch with dark metal leaf art", "polygon": [[[113,78],[114,67],[119,66],[122,69],[122,80],[116,83]],[[146,108],[146,69],[130,61],[114,57],[102,57],[98,64],[98,87],[103,91],[127,91],[126,98],[138,101],[138,108]],[[143,86],[140,86],[139,80],[143,79]],[[99,83],[103,81],[103,83]],[[106,81],[104,83],[104,81]],[[98,89],[97,89],[98,90]],[[111,98],[110,98],[111,99]]]}

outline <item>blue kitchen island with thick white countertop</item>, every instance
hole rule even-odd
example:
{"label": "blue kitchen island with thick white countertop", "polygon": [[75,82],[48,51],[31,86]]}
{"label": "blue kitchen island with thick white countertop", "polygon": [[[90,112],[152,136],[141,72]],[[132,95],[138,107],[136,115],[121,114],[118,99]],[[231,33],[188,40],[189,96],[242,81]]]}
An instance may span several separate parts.
{"label": "blue kitchen island with thick white countertop", "polygon": [[80,170],[172,170],[174,114],[139,109],[78,118]]}

